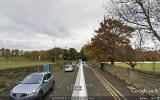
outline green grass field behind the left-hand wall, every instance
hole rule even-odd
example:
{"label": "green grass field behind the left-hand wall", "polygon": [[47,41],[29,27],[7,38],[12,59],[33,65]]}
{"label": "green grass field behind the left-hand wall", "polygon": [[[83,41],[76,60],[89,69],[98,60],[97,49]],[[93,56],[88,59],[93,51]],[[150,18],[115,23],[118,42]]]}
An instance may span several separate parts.
{"label": "green grass field behind the left-hand wall", "polygon": [[18,67],[26,67],[26,66],[36,66],[36,65],[45,65],[52,64],[52,62],[42,61],[42,62],[0,62],[0,69],[7,68],[18,68]]}

